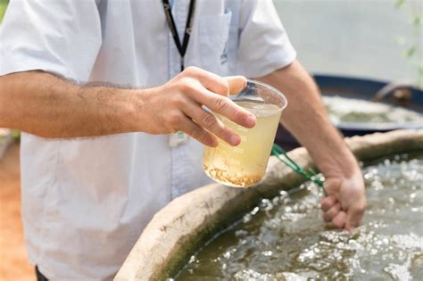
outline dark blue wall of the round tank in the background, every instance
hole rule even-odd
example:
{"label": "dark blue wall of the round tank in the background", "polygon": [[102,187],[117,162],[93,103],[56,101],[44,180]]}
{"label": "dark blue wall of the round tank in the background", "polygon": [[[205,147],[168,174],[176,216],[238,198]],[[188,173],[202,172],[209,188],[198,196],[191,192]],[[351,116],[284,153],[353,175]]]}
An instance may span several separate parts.
{"label": "dark blue wall of the round tank in the background", "polygon": [[[358,79],[341,76],[314,75],[322,95],[339,95],[343,97],[371,101],[375,95],[384,96],[382,103],[394,104],[415,112],[423,113],[423,91],[405,83],[397,85],[386,81],[373,79]],[[406,95],[394,95],[394,91],[402,89]],[[382,90],[382,92],[380,91]],[[377,94],[379,93],[379,94]],[[288,101],[289,106],[289,101]],[[363,136],[375,132],[386,132],[399,128],[423,128],[423,124],[392,123],[389,125],[378,123],[340,123],[336,126],[344,136]],[[279,125],[275,142],[286,150],[300,146],[298,141],[286,128]]]}

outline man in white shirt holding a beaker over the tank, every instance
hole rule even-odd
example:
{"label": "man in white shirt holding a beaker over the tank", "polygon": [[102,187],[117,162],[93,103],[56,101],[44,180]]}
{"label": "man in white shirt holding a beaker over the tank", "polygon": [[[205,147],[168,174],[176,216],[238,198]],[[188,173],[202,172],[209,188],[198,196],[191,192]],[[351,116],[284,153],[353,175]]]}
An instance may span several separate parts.
{"label": "man in white shirt holding a beaker over the tank", "polygon": [[[5,14],[0,127],[27,132],[26,243],[49,279],[112,278],[156,211],[210,182],[203,145],[240,138],[202,105],[246,128],[256,121],[228,99],[245,85],[222,78],[229,75],[286,94],[282,121],[326,177],[324,219],[360,224],[361,171],[271,1],[174,0],[169,8],[158,0],[16,0]],[[175,139],[178,131],[191,137]],[[103,137],[49,139],[81,136]]]}

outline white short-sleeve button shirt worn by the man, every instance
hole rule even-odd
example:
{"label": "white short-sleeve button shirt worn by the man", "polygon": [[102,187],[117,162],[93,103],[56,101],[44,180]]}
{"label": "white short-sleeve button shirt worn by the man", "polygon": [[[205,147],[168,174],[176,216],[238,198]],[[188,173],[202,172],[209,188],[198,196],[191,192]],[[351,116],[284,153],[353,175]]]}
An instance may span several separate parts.
{"label": "white short-sleeve button shirt worn by the man", "polygon": [[[179,35],[189,0],[174,0]],[[186,65],[258,77],[295,51],[270,0],[197,0]],[[162,85],[179,54],[160,0],[12,0],[0,28],[0,75],[46,70],[78,82]],[[166,203],[210,182],[202,145],[145,133],[21,139],[29,259],[50,279],[110,279]],[[189,203],[189,202],[187,202]]]}

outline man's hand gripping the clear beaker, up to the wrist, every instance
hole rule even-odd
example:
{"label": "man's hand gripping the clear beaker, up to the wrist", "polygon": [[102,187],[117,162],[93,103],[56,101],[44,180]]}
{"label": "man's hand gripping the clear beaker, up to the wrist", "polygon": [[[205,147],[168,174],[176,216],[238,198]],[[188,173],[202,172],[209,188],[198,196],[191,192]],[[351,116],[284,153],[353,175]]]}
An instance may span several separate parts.
{"label": "man's hand gripping the clear beaker, up to the wrist", "polygon": [[218,145],[215,137],[218,136],[229,145],[239,145],[240,137],[202,106],[245,128],[253,128],[254,115],[228,98],[245,85],[244,77],[223,79],[211,72],[188,67],[163,86],[140,93],[142,131],[150,134],[183,131],[209,146]]}

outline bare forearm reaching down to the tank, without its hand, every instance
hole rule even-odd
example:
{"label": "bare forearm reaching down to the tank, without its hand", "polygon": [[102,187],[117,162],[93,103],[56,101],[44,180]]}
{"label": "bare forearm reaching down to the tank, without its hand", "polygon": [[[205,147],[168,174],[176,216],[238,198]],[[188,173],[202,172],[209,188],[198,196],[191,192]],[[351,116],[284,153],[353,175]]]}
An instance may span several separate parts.
{"label": "bare forearm reaching down to the tank, without its hand", "polygon": [[349,177],[358,169],[352,153],[329,120],[319,89],[298,62],[259,80],[286,95],[282,123],[311,153],[327,177]]}

